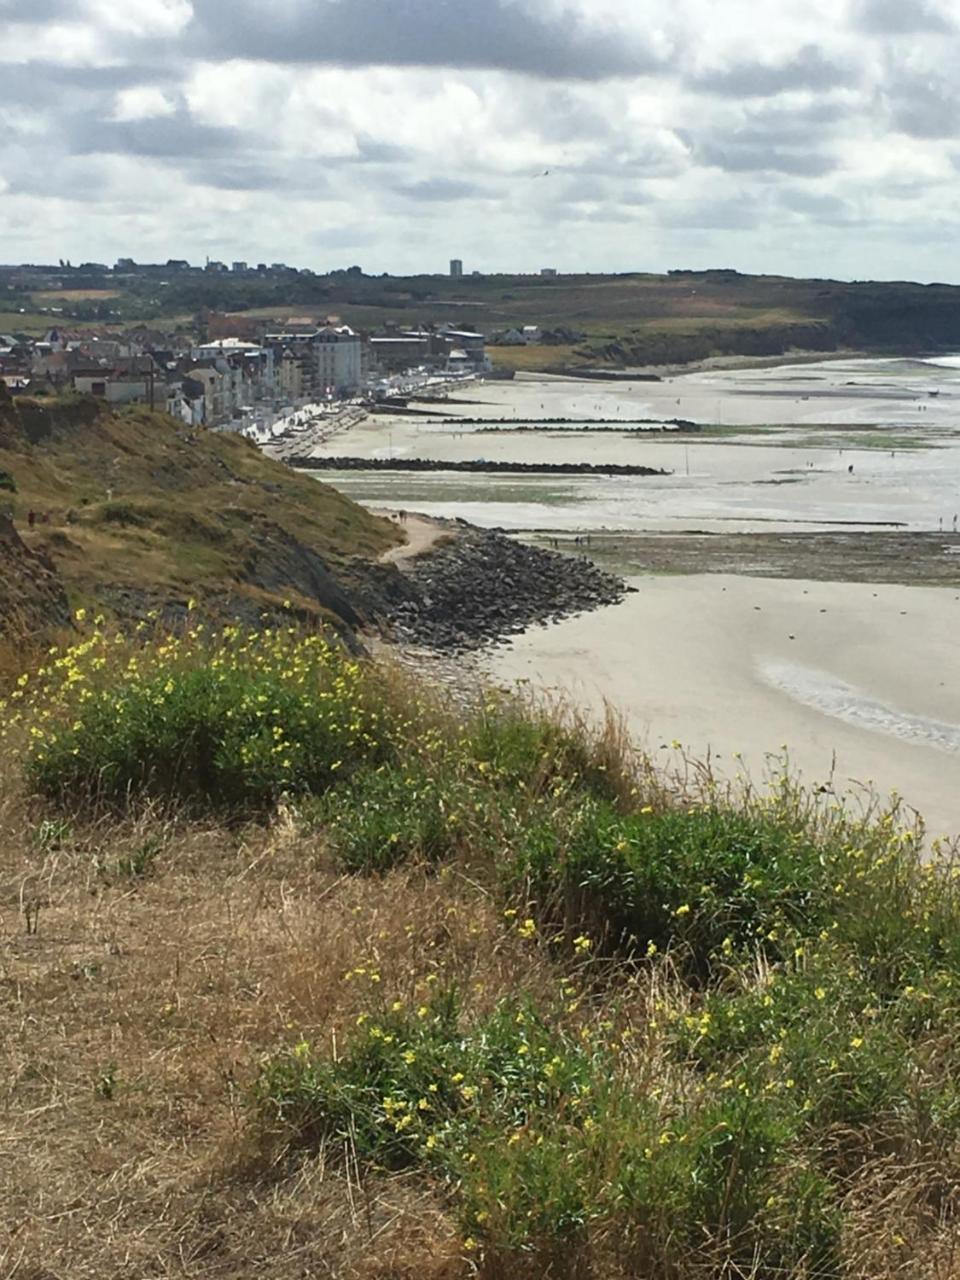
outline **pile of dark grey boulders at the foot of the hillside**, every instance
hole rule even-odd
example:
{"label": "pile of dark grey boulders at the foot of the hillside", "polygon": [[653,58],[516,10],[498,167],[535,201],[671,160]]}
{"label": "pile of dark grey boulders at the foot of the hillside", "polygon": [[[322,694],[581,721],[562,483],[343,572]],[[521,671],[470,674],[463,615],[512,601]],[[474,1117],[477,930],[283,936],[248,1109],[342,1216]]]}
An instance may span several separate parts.
{"label": "pile of dark grey boulders at the foot of the hillside", "polygon": [[626,584],[576,556],[499,530],[452,525],[449,541],[393,566],[366,566],[355,598],[404,645],[465,653],[535,623],[617,604]]}

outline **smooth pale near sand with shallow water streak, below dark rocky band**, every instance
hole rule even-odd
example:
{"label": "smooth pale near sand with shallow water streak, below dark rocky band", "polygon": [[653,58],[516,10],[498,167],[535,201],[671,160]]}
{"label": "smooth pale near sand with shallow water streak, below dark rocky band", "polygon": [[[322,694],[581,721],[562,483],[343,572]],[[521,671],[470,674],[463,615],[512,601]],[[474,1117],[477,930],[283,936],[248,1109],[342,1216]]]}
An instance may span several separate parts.
{"label": "smooth pale near sand with shallow water streak, below dark rocky band", "polygon": [[[936,588],[641,577],[622,604],[511,641],[486,659],[512,685],[620,708],[664,760],[681,741],[753,778],[788,744],[806,782],[897,790],[931,837],[960,833],[957,593]],[[826,611],[826,612],[822,612]]]}

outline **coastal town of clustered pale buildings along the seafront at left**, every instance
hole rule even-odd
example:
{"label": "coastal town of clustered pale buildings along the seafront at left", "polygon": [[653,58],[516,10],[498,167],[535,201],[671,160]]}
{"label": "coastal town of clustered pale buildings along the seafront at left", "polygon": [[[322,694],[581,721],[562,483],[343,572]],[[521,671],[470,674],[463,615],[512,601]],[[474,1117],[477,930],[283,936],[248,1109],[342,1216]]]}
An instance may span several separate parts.
{"label": "coastal town of clustered pale buildings along the seafront at left", "polygon": [[[451,261],[449,278],[461,275],[462,264]],[[206,297],[225,279],[275,282],[296,300],[305,291],[292,283],[308,284],[314,273],[282,262],[250,268],[209,261],[192,268],[186,260],[140,265],[132,259],[119,259],[113,268],[0,268],[0,288],[13,298],[63,294],[59,306],[40,308],[49,317],[46,330],[18,326],[26,306],[5,311],[0,378],[18,394],[74,390],[110,404],[141,403],[191,426],[239,431],[264,443],[288,431],[305,407],[319,417],[351,403],[431,393],[493,372],[486,334],[442,314],[429,323],[385,320],[357,329],[321,305],[294,301],[269,315],[262,312],[270,308],[250,315],[201,305],[189,317],[124,324],[123,314],[110,306],[109,285],[146,282],[161,292],[192,279]],[[530,346],[543,334],[530,324],[490,337],[504,346]]]}

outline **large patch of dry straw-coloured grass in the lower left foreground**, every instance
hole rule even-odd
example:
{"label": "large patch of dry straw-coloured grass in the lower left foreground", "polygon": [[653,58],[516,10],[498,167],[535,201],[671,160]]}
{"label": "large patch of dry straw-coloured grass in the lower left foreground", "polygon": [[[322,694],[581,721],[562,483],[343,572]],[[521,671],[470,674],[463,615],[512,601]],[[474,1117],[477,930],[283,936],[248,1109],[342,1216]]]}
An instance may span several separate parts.
{"label": "large patch of dry straw-coloured grass in the lower left foreground", "polygon": [[[431,972],[479,1004],[535,988],[494,905],[456,873],[337,877],[284,817],[237,833],[143,814],[44,849],[4,781],[0,1275],[462,1274],[422,1179],[361,1176],[338,1153],[275,1165],[246,1102],[278,1043],[343,1039],[360,964],[398,993]],[[150,874],[118,872],[157,833]]]}

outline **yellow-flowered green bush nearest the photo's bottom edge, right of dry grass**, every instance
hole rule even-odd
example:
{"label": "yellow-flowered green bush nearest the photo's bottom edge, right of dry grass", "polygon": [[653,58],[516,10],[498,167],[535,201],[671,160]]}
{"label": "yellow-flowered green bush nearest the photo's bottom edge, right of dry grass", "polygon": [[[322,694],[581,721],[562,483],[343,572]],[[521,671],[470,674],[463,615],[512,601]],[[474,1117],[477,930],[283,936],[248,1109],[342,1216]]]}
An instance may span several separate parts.
{"label": "yellow-flowered green bush nearest the photo's bottom edge, right of dry grass", "polygon": [[489,1249],[549,1253],[598,1230],[655,1257],[658,1274],[705,1247],[823,1274],[840,1219],[794,1112],[733,1094],[671,1121],[628,1085],[622,1047],[562,1032],[522,998],[468,1027],[449,991],[362,1016],[337,1060],[300,1043],[266,1065],[257,1097],[296,1143],[444,1179]]}

